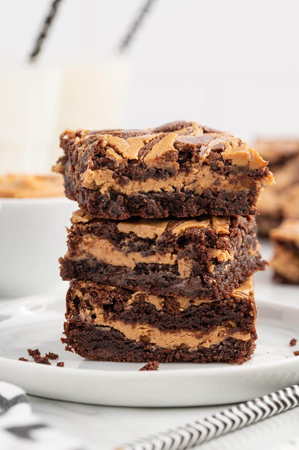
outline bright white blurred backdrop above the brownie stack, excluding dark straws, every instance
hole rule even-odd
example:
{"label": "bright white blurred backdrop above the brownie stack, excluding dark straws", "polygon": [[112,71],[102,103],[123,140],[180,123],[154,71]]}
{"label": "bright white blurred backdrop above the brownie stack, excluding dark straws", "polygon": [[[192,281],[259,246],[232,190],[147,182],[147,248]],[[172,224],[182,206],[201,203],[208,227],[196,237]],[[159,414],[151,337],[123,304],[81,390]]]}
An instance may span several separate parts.
{"label": "bright white blurred backdrop above the brownie stack, excluding dark straws", "polygon": [[63,0],[40,57],[29,64],[50,4],[1,5],[0,152],[7,166],[20,154],[20,169],[46,170],[64,127],[185,119],[251,144],[256,135],[299,135],[298,2],[156,0],[119,58],[143,1]]}

